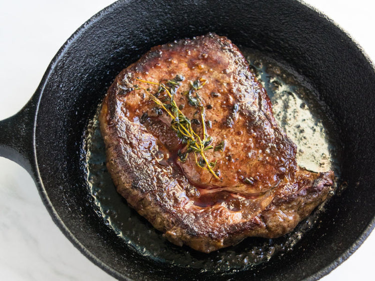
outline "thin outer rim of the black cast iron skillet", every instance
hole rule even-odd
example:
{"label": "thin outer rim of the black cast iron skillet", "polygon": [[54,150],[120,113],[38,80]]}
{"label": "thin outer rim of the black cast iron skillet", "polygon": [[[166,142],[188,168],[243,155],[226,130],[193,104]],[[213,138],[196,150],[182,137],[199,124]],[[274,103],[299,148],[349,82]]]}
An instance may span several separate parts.
{"label": "thin outer rim of the black cast iron skillet", "polygon": [[[34,111],[34,116],[33,116],[33,124],[32,126],[32,156],[33,159],[30,159],[30,164],[31,164],[31,172],[32,172],[32,177],[33,180],[37,186],[39,195],[42,199],[42,202],[44,206],[46,207],[49,215],[51,216],[53,222],[56,224],[56,226],[60,229],[60,231],[64,234],[64,236],[74,245],[75,248],[79,250],[88,260],[90,260],[93,264],[101,268],[103,271],[105,271],[107,274],[110,276],[119,279],[119,280],[129,280],[131,281],[131,277],[125,276],[123,274],[120,274],[116,270],[110,268],[107,266],[104,262],[102,262],[99,258],[97,258],[92,252],[88,251],[83,244],[80,243],[80,241],[70,232],[70,230],[66,227],[62,219],[59,217],[57,214],[55,208],[53,207],[47,192],[45,190],[42,178],[40,176],[39,172],[39,166],[38,166],[38,159],[37,159],[37,153],[36,153],[36,124],[37,124],[37,117],[38,117],[38,111],[39,111],[39,105],[41,102],[41,98],[44,93],[44,88],[48,82],[48,79],[51,75],[51,72],[54,70],[54,67],[56,66],[57,62],[59,59],[63,56],[65,51],[69,48],[69,46],[72,44],[73,41],[77,37],[79,37],[86,28],[94,24],[98,19],[100,19],[102,16],[104,16],[106,13],[110,12],[111,10],[115,9],[118,5],[120,4],[126,4],[128,2],[131,2],[132,0],[118,0],[100,11],[98,11],[96,14],[91,16],[87,21],[85,21],[81,26],[79,26],[72,35],[65,41],[65,43],[59,48],[57,53],[54,55],[52,58],[51,62],[49,63],[47,69],[45,70],[42,79],[33,94],[33,96],[30,98],[30,101],[35,99],[35,111]],[[341,32],[346,35],[346,37],[349,39],[347,41],[348,44],[353,44],[353,47],[356,47],[359,49],[360,53],[364,56],[365,60],[369,65],[371,66],[372,70],[375,72],[375,64],[372,62],[372,60],[369,58],[368,54],[365,52],[365,50],[358,44],[358,42],[352,38],[352,36],[342,27],[340,27],[334,20],[330,19],[328,16],[326,16],[324,13],[319,11],[317,8],[314,6],[304,2],[303,0],[294,0],[296,4],[301,4],[308,9],[312,10],[322,18],[322,20],[328,21],[330,24],[332,24],[332,27],[338,28]],[[355,242],[346,249],[338,258],[336,258],[333,262],[322,268],[321,270],[315,272],[311,276],[307,277],[305,280],[306,281],[316,281],[323,276],[329,274],[332,270],[334,270],[336,267],[338,267],[340,264],[342,264],[344,261],[346,261],[350,255],[352,255],[358,248],[359,246],[364,242],[364,240],[369,236],[371,231],[375,228],[375,216],[373,216],[372,220],[368,223],[367,227],[364,229],[364,231],[361,233],[361,235],[355,240]]]}

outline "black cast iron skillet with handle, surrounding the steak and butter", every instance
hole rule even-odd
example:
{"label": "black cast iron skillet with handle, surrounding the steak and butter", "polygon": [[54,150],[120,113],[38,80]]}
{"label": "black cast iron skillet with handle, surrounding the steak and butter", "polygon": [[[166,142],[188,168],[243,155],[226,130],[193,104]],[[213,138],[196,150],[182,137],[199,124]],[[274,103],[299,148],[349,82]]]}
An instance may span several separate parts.
{"label": "black cast iron skillet with handle, surrounding the steak and butter", "polygon": [[[141,256],[94,211],[83,132],[115,75],[150,47],[208,31],[292,65],[328,105],[343,144],[348,187],[293,251],[239,272],[201,273]],[[33,177],[56,225],[87,258],[121,280],[317,280],[374,227],[375,72],[322,14],[291,0],[118,1],[61,47],[27,105],[0,122],[0,155]]]}

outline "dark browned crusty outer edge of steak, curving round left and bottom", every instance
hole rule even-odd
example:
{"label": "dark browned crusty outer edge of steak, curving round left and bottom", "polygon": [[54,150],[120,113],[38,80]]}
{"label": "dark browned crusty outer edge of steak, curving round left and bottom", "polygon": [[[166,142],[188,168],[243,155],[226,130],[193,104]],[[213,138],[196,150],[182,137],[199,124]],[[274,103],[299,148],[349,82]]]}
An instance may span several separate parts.
{"label": "dark browned crusty outer edge of steak, curving round left and bottom", "polygon": [[[238,56],[239,51],[226,38],[214,34],[206,37],[213,38]],[[198,37],[198,41],[204,39],[204,36]],[[186,40],[175,42],[176,45],[185,43]],[[250,236],[275,238],[290,232],[326,199],[333,184],[333,172],[315,174],[295,168],[292,181],[282,181],[255,199],[243,199],[240,211],[231,211],[218,204],[194,205],[186,196],[193,187],[176,172],[177,166],[162,166],[151,157],[149,150],[153,145],[165,148],[160,148],[162,145],[143,126],[129,120],[128,112],[123,108],[124,101],[119,97],[121,89],[118,85],[129,79],[129,73],[147,73],[150,70],[147,62],[158,48],[168,47],[154,47],[137,63],[123,70],[103,101],[100,129],[106,147],[107,168],[117,191],[170,242],[205,253],[234,245]],[[265,92],[260,96],[260,110],[265,112],[272,129],[279,131]],[[279,132],[284,142],[290,142],[282,131]],[[143,144],[140,146],[139,142]],[[295,146],[291,143],[290,147],[291,153],[294,151],[295,154]],[[291,155],[294,157],[294,154]],[[290,163],[295,165],[295,159]]]}

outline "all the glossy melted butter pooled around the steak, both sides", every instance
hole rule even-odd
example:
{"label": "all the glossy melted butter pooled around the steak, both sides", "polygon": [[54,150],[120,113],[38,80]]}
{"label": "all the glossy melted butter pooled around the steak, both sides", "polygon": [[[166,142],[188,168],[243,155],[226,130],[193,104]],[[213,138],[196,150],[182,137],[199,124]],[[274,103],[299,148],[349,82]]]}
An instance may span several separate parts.
{"label": "all the glossy melted butter pooled around the steak, both sides", "polygon": [[[324,115],[324,106],[306,85],[303,77],[256,52],[245,52],[257,79],[263,84],[273,104],[273,112],[280,126],[298,146],[298,163],[312,171],[333,169],[338,175],[337,149],[334,128]],[[195,268],[201,272],[236,272],[269,261],[274,255],[291,251],[303,234],[318,224],[323,206],[318,207],[291,233],[277,239],[248,238],[238,245],[210,254],[203,254],[169,243],[139,216],[115,190],[105,166],[104,143],[99,130],[98,111],[89,122],[84,141],[89,192],[97,215],[107,227],[122,238],[123,243],[139,255],[158,262]],[[330,135],[328,134],[330,133]],[[163,161],[158,150],[151,151],[156,161]],[[197,192],[197,191],[195,191]],[[182,195],[184,196],[184,195]],[[241,198],[231,198],[229,207],[235,211]]]}

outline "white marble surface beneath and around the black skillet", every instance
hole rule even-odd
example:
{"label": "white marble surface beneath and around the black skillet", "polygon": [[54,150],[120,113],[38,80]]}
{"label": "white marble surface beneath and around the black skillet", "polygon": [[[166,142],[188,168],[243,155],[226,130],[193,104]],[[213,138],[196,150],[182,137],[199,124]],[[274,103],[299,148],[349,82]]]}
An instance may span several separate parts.
{"label": "white marble surface beneath and around the black skillet", "polygon": [[[0,0],[0,120],[26,103],[70,34],[110,2]],[[375,61],[372,1],[307,2],[352,34]],[[321,280],[373,280],[374,246],[372,233],[346,262]],[[113,280],[60,233],[30,176],[4,158],[0,158],[0,280]]]}

